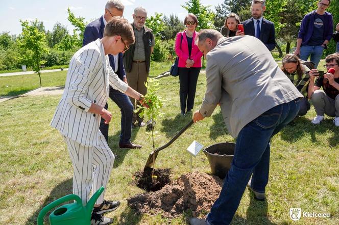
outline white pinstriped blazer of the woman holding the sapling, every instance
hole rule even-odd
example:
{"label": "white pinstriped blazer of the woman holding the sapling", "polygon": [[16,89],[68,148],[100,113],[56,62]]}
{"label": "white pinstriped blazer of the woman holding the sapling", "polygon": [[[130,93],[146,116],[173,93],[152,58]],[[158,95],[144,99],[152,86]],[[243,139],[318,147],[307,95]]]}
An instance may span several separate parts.
{"label": "white pinstriped blazer of the woman holding the sapling", "polygon": [[51,126],[82,146],[98,145],[101,116],[88,110],[92,103],[105,106],[109,85],[122,93],[128,87],[109,66],[108,55],[97,39],[78,50],[70,60],[65,90]]}

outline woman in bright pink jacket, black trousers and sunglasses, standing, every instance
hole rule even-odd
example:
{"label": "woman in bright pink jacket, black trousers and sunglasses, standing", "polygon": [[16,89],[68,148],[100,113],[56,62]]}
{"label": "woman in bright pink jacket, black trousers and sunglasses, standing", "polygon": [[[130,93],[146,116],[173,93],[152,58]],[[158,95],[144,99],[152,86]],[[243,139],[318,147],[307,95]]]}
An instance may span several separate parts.
{"label": "woman in bright pink jacket, black trousers and sunglasses, standing", "polygon": [[198,34],[196,32],[198,26],[197,16],[189,13],[184,20],[184,24],[187,29],[177,34],[175,44],[176,53],[179,57],[181,115],[192,112],[201,69],[201,57],[203,55],[194,41]]}

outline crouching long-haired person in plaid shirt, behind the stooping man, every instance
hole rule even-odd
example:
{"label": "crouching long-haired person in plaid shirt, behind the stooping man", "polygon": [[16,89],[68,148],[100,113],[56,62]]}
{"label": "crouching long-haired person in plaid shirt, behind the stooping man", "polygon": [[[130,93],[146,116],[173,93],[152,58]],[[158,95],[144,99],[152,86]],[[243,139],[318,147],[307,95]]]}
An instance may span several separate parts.
{"label": "crouching long-haired person in plaid shirt, behind the stooping man", "polygon": [[286,74],[289,80],[296,86],[298,91],[304,96],[300,102],[298,116],[305,116],[310,109],[310,104],[307,98],[307,88],[309,83],[309,71],[301,60],[295,54],[286,54],[282,59],[281,70]]}

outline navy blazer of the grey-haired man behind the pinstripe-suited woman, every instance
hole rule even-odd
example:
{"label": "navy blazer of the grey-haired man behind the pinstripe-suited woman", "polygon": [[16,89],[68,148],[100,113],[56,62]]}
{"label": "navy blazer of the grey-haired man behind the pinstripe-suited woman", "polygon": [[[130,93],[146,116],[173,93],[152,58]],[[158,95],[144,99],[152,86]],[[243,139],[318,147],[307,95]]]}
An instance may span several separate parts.
{"label": "navy blazer of the grey-haired man behind the pinstripe-suited woman", "polygon": [[[103,38],[104,36],[104,17],[101,16],[99,19],[96,19],[92,22],[90,22],[84,32],[84,40],[82,42],[82,46],[87,45],[88,43],[95,41],[98,38]],[[109,54],[109,65],[112,67],[113,71],[115,68],[114,64],[114,57],[113,55]],[[124,62],[123,62],[123,53],[119,53],[119,60],[118,60],[118,70],[116,71],[116,74],[121,80],[124,80],[124,76],[126,76],[125,68],[124,68]]]}

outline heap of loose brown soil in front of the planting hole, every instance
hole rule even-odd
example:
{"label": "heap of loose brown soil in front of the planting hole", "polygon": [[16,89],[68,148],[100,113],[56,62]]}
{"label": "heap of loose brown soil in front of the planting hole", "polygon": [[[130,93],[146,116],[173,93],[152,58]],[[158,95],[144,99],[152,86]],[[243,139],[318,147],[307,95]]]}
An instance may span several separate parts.
{"label": "heap of loose brown soil in front of the planting hole", "polygon": [[162,213],[166,218],[178,217],[188,210],[192,211],[192,216],[208,212],[220,194],[223,180],[194,172],[190,183],[191,187],[189,174],[185,174],[161,190],[137,194],[127,202],[138,214]]}

